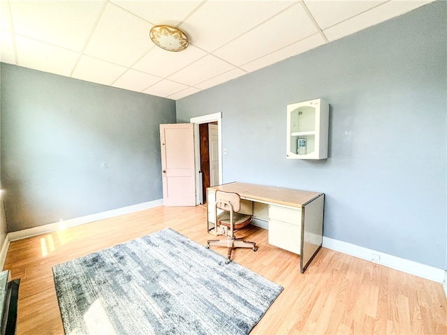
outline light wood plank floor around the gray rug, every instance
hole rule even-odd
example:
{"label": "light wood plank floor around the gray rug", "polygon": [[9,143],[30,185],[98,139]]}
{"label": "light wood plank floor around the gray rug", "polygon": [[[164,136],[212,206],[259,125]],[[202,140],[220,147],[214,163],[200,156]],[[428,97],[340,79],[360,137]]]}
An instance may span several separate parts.
{"label": "light wood plank floor around the gray rug", "polygon": [[[205,245],[205,221],[205,207],[156,207],[11,242],[4,268],[22,278],[17,334],[64,334],[53,265],[166,227]],[[266,230],[240,234],[259,249],[233,260],[284,287],[251,334],[447,334],[440,283],[326,248],[300,274],[299,256],[269,246]]]}

